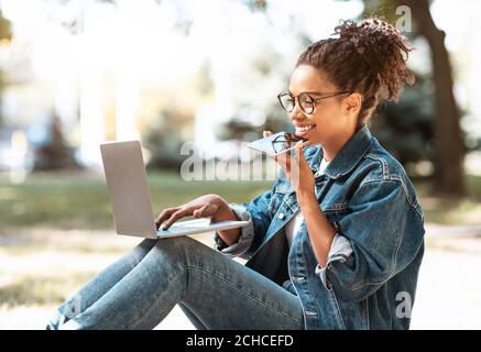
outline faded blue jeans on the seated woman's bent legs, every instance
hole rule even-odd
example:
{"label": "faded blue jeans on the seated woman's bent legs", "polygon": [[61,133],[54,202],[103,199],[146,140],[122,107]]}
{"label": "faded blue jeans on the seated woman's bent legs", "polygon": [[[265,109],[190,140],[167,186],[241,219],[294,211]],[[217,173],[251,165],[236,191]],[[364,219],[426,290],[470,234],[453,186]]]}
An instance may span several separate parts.
{"label": "faded blue jeans on the seated woman's bent legs", "polygon": [[153,329],[176,304],[197,329],[304,329],[295,294],[187,237],[142,241],[46,328]]}

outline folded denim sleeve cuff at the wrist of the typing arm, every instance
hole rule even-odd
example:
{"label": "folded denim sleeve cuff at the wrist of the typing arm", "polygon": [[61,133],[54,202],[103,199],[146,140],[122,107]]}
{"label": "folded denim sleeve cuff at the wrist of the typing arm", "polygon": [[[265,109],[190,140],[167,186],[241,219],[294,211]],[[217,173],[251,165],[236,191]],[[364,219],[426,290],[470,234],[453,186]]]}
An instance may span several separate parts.
{"label": "folded denim sleeve cuff at the wrist of the typing arm", "polygon": [[236,257],[242,255],[250,249],[254,239],[254,226],[252,223],[252,217],[245,207],[234,204],[230,204],[229,207],[238,220],[249,221],[249,223],[241,228],[241,235],[239,237],[238,242],[232,245],[227,245],[217,231],[215,232],[214,239],[216,241],[216,250],[229,257]]}

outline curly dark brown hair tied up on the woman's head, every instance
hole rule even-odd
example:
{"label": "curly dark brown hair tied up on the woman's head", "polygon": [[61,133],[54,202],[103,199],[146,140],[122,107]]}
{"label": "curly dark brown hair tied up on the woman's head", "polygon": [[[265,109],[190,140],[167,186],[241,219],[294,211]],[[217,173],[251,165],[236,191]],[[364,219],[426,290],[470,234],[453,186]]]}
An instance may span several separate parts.
{"label": "curly dark brown hair tied up on the woman's head", "polygon": [[414,84],[414,75],[406,69],[412,48],[398,30],[379,18],[341,21],[332,35],[337,37],[309,45],[296,67],[313,66],[340,90],[361,94],[361,127],[382,100],[397,101],[404,84]]}

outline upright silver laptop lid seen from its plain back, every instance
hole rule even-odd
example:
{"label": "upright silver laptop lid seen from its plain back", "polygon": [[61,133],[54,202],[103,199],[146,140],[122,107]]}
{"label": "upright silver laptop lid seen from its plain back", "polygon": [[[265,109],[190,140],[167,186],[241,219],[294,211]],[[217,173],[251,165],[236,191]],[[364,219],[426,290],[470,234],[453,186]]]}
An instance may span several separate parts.
{"label": "upright silver laptop lid seen from its plain back", "polygon": [[102,143],[100,152],[117,233],[155,239],[154,213],[140,142]]}

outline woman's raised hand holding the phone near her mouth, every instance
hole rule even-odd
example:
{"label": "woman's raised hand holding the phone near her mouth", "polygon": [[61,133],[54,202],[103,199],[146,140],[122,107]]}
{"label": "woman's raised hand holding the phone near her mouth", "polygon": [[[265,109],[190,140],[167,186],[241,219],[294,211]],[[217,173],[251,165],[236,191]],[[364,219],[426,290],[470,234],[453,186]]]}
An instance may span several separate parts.
{"label": "woman's raised hand holding the phone near her mouth", "polygon": [[[271,131],[264,131],[263,133],[264,138],[271,134]],[[298,201],[306,197],[316,197],[314,174],[303,152],[303,147],[307,145],[309,145],[309,142],[299,141],[291,153],[274,156],[274,161],[281,165],[289,178]]]}

